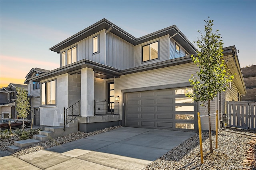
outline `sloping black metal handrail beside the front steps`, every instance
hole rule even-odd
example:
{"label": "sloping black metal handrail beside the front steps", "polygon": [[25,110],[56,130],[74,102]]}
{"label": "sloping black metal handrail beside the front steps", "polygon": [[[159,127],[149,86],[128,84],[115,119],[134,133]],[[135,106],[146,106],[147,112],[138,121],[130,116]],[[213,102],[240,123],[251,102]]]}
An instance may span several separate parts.
{"label": "sloping black metal handrail beside the front steps", "polygon": [[80,116],[80,100],[68,107],[64,108],[64,131],[66,130],[66,125],[74,120],[76,117]]}

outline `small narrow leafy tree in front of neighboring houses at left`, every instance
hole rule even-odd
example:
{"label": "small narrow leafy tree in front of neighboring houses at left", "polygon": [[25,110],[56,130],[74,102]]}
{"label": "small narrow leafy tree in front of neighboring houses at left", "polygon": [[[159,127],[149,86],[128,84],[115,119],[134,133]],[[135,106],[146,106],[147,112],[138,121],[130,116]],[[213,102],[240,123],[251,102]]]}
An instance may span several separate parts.
{"label": "small narrow leafy tree in front of neighboring houses at left", "polygon": [[24,129],[24,119],[28,116],[30,111],[30,104],[28,98],[28,92],[24,88],[16,88],[17,90],[17,100],[16,100],[16,110],[17,116],[23,118],[22,130]]}

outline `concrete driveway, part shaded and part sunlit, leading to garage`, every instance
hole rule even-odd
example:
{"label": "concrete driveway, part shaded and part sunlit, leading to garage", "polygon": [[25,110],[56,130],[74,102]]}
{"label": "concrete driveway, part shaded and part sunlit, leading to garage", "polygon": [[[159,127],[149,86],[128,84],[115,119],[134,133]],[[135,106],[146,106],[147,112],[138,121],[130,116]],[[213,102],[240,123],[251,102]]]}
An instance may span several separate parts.
{"label": "concrete driveway, part shaded and part sunlit, leading to garage", "polygon": [[122,127],[18,158],[5,156],[0,165],[4,170],[140,170],[194,134]]}

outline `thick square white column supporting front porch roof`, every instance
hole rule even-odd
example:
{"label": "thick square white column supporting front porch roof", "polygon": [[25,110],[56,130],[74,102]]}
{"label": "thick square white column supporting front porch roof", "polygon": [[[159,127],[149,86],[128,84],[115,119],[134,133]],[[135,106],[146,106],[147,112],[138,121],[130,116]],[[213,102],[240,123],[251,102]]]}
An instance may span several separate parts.
{"label": "thick square white column supporting front porch roof", "polygon": [[81,116],[94,116],[94,71],[81,69]]}

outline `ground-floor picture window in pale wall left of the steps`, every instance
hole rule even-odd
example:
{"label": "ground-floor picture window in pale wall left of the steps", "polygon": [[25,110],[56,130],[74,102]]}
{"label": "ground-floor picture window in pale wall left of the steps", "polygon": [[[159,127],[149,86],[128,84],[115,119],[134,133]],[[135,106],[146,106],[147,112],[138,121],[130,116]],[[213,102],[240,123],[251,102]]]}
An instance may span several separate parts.
{"label": "ground-floor picture window in pale wall left of the steps", "polygon": [[56,80],[41,84],[41,105],[56,104]]}

